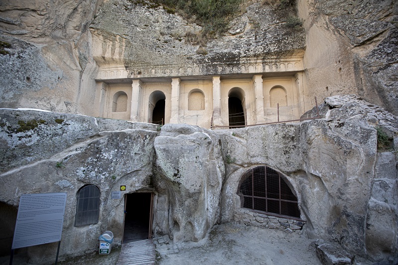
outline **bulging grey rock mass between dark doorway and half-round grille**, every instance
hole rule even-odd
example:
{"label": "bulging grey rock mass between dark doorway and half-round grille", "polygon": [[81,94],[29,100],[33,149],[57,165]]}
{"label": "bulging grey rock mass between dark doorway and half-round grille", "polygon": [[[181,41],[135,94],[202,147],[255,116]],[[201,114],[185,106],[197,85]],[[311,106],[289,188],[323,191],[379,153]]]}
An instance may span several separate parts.
{"label": "bulging grey rock mass between dark doorway and half-round grille", "polygon": [[158,172],[155,186],[173,198],[169,199],[169,210],[155,217],[168,218],[168,230],[155,232],[169,234],[174,242],[199,241],[220,221],[225,173],[219,137],[195,126],[166,124],[154,148]]}

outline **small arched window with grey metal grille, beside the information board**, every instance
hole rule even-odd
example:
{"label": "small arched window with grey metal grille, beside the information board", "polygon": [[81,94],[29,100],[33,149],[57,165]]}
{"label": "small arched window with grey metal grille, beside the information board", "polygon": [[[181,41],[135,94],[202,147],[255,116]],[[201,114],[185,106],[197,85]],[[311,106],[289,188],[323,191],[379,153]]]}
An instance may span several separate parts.
{"label": "small arched window with grey metal grille, beside the information board", "polygon": [[98,223],[100,214],[100,189],[87,185],[78,191],[75,226]]}

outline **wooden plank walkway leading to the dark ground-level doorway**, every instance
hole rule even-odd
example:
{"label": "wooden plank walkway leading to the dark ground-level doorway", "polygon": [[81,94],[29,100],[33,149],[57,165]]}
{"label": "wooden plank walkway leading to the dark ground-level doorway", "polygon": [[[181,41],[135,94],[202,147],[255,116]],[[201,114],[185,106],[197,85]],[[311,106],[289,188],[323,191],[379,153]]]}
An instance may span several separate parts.
{"label": "wooden plank walkway leading to the dark ground-level doorway", "polygon": [[123,244],[116,265],[155,265],[153,240],[146,239]]}

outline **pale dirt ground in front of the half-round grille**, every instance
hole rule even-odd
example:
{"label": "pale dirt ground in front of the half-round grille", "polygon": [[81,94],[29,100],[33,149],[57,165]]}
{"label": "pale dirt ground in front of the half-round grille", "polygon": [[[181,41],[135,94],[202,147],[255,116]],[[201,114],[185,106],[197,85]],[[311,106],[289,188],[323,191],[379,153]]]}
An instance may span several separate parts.
{"label": "pale dirt ground in front of the half-round grille", "polygon": [[157,265],[321,265],[310,243],[296,233],[228,223],[198,243],[178,244],[179,253],[162,256]]}

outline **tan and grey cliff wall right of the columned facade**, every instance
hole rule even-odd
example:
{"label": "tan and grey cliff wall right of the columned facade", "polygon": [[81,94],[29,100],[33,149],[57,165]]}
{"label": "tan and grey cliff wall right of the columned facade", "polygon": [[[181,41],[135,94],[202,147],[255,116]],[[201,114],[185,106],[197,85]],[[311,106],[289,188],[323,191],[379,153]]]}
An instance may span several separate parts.
{"label": "tan and grey cliff wall right of the columned facade", "polygon": [[397,1],[299,0],[298,11],[308,89],[356,93],[397,114]]}

